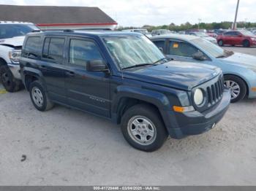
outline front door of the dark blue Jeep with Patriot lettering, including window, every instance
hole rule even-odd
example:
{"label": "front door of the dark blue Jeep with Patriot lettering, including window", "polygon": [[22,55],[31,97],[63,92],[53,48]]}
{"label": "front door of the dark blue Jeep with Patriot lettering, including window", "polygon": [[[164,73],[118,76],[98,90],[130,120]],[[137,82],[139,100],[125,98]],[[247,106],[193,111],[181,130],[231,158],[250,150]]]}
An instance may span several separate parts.
{"label": "front door of the dark blue Jeep with Patriot lettering, including window", "polygon": [[104,60],[97,42],[69,38],[65,87],[67,103],[84,111],[110,117],[110,76],[103,71],[86,71],[92,60]]}

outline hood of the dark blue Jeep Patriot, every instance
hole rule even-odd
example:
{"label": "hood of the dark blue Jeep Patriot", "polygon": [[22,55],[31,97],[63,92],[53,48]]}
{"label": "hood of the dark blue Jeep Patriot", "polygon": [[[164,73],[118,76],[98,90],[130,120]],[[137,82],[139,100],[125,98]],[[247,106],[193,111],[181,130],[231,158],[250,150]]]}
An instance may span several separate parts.
{"label": "hood of the dark blue Jeep Patriot", "polygon": [[192,87],[217,77],[220,72],[221,69],[214,66],[170,61],[157,66],[124,71],[124,77],[180,90],[192,90]]}

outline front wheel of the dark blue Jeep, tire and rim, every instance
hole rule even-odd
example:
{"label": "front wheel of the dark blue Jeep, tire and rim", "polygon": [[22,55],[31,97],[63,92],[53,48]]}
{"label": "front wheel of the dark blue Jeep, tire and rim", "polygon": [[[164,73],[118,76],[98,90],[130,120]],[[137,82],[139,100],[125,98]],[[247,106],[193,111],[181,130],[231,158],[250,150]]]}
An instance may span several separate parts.
{"label": "front wheel of the dark blue Jeep, tire and rim", "polygon": [[145,152],[159,149],[167,139],[167,130],[158,111],[146,104],[127,109],[121,118],[121,131],[132,147]]}

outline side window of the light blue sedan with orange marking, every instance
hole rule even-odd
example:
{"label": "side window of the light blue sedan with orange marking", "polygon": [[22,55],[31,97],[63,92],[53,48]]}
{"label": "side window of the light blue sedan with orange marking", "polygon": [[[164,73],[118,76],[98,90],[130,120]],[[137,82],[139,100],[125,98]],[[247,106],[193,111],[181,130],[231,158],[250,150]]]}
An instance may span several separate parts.
{"label": "side window of the light blue sedan with orange marking", "polygon": [[169,42],[169,55],[178,55],[184,57],[191,57],[198,52],[198,49],[193,47],[191,44],[187,42]]}

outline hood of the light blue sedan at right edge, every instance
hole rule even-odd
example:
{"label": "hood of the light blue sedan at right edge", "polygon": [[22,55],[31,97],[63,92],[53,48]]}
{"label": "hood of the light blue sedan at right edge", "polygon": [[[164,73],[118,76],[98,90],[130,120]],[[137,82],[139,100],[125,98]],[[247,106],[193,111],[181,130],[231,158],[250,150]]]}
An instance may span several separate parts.
{"label": "hood of the light blue sedan at right edge", "polygon": [[250,69],[256,69],[256,56],[246,55],[242,53],[235,52],[227,58],[221,58],[223,61],[229,61],[229,63],[244,66]]}

